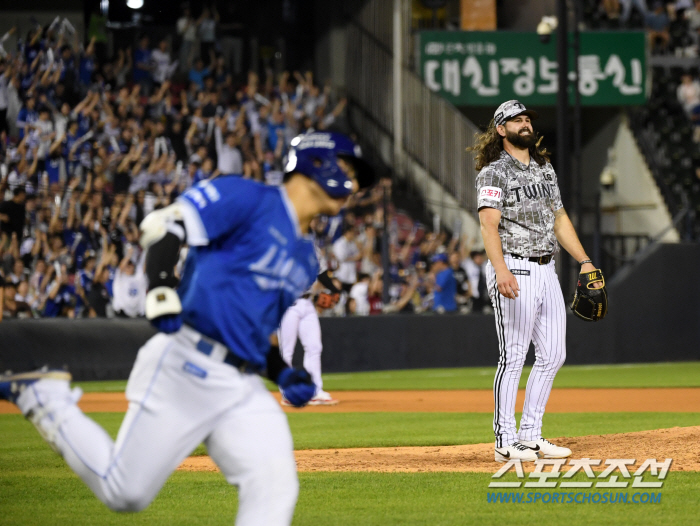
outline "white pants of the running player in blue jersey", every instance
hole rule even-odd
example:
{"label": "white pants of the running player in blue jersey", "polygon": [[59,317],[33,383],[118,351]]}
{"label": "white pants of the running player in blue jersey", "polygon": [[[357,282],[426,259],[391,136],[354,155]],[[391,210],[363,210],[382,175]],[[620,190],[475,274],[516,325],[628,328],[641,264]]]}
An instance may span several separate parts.
{"label": "white pants of the running player in blue jersey", "polygon": [[287,418],[259,376],[200,353],[199,337],[183,327],[153,336],[139,350],[116,442],[80,411],[67,382],[36,382],[18,405],[38,415],[33,421],[40,433],[113,510],[148,506],[204,442],[238,487],[236,524],[288,525],[299,484]]}

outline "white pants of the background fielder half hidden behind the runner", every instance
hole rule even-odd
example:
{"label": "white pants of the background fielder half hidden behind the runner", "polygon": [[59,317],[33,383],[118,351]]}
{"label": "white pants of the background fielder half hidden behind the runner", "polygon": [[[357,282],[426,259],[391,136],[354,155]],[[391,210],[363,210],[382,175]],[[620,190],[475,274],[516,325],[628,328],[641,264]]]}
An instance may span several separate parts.
{"label": "white pants of the background fielder half hidden behind the runner", "polygon": [[280,323],[279,343],[282,359],[292,364],[297,338],[304,347],[304,369],[311,375],[317,389],[323,389],[321,379],[321,322],[316,307],[309,298],[299,298],[289,307]]}

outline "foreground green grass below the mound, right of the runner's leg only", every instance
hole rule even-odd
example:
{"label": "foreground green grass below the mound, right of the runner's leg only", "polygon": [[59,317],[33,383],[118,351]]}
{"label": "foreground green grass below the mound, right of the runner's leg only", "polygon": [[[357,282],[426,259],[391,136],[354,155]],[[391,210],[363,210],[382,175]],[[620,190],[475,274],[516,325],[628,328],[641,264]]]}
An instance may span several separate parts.
{"label": "foreground green grass below the mound, right of the runner's leg only", "polygon": [[642,490],[662,494],[648,505],[489,504],[494,490],[481,473],[302,473],[300,480],[294,524],[695,524],[700,512],[698,473],[671,473],[661,490]]}

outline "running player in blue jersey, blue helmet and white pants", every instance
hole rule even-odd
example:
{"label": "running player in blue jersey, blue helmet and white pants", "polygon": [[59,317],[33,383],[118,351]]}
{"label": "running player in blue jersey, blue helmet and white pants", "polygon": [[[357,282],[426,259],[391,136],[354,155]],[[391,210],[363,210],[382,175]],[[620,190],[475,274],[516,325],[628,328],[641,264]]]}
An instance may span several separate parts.
{"label": "running player in blue jersey, blue helmet and white pants", "polygon": [[[146,316],[161,332],[138,353],[116,442],[78,409],[80,392],[70,390],[67,372],[0,376],[0,396],[19,406],[111,509],[145,508],[204,442],[239,488],[237,524],[292,520],[292,438],[256,373],[277,382],[294,405],[314,395],[309,374],[286,366],[271,335],[318,274],[311,219],[337,214],[358,184],[373,179],[345,136],[309,134],[292,146],[283,187],[238,177],[204,181],[141,224]],[[356,179],[345,163],[355,166]],[[185,240],[176,291],[173,269]]]}

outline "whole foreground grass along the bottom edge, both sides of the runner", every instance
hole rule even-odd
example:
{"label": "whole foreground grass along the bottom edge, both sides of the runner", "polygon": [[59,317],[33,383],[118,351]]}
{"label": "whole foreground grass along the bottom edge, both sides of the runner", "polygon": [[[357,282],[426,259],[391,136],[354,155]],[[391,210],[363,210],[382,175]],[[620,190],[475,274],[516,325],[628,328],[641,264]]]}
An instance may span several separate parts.
{"label": "whole foreground grass along the bottom edge, both sides of the runner", "polygon": [[[487,493],[498,490],[488,488],[488,473],[301,473],[299,480],[295,525],[695,524],[700,513],[698,473],[671,472],[662,489],[642,490],[662,494],[648,505],[489,504]],[[3,525],[232,524],[237,507],[219,473],[174,473],[138,514],[109,511],[68,468],[0,471],[0,490]]]}

